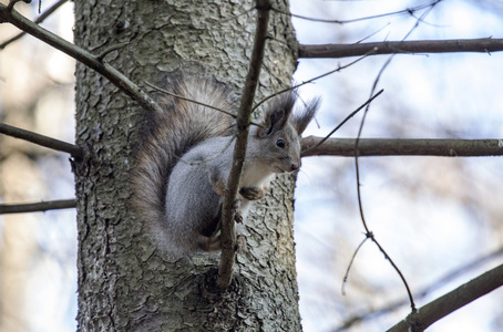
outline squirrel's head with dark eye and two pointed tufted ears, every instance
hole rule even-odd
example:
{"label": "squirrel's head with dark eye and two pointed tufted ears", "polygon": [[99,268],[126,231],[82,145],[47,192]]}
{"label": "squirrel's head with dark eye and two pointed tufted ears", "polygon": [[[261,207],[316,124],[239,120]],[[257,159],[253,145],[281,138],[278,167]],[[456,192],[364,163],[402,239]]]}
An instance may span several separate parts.
{"label": "squirrel's head with dark eye and two pointed tufted ears", "polygon": [[297,107],[296,91],[285,93],[269,106],[261,127],[256,131],[263,162],[273,173],[290,173],[300,168],[300,134],[315,117],[320,98],[314,98]]}

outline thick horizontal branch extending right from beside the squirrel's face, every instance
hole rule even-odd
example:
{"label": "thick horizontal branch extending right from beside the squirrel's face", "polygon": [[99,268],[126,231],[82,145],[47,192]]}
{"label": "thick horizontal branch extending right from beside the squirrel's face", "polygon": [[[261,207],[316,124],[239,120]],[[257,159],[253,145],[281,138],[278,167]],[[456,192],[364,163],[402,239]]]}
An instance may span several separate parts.
{"label": "thick horizontal branch extending right from beside the squirrel's face", "polygon": [[[355,138],[330,138],[320,146],[309,149],[324,139],[309,136],[302,138],[302,157],[343,156],[355,157]],[[309,149],[309,151],[308,151]],[[304,151],[306,151],[304,153]],[[401,139],[360,138],[358,156],[444,156],[482,157],[502,156],[503,139]]]}

